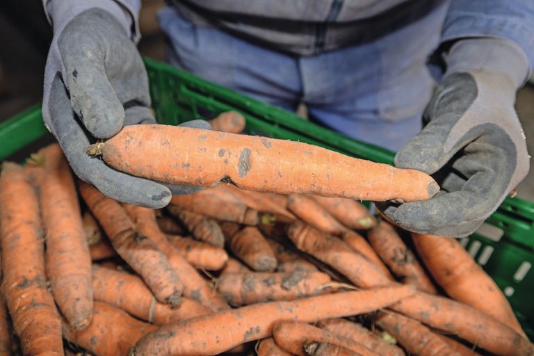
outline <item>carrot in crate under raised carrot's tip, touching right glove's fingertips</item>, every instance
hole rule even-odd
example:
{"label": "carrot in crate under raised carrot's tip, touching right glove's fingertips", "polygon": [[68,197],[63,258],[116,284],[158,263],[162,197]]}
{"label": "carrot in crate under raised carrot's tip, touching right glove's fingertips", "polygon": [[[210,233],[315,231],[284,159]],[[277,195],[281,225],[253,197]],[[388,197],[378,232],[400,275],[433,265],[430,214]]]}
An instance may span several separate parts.
{"label": "carrot in crate under raised carrot's tip, touching right glove's fingertips", "polygon": [[376,225],[376,219],[364,204],[342,197],[321,197],[310,195],[323,209],[350,229],[369,229]]}

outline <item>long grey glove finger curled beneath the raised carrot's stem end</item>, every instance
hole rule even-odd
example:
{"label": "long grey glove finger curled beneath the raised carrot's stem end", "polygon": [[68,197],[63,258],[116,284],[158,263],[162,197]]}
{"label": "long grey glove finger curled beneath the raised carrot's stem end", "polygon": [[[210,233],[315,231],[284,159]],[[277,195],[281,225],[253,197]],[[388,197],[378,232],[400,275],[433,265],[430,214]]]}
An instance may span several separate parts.
{"label": "long grey glove finger curled beneath the raised carrot's stem end", "polygon": [[67,161],[83,181],[92,184],[104,195],[127,204],[159,209],[170,202],[170,191],[165,186],[113,170],[102,160],[86,154],[90,140],[74,117],[59,76],[52,83],[49,110],[53,131]]}

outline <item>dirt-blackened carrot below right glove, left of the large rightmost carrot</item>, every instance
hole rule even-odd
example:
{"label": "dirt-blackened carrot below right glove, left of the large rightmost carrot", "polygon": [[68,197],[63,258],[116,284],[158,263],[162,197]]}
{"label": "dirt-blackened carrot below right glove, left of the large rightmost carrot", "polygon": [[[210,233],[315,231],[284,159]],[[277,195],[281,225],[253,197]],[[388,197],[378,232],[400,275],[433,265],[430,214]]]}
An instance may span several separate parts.
{"label": "dirt-blackened carrot below right glove, left of the large rightmost carrot", "polygon": [[385,221],[380,221],[376,227],[369,230],[367,239],[382,261],[401,282],[412,284],[421,291],[437,293],[425,270],[401,236],[398,236],[394,227]]}

